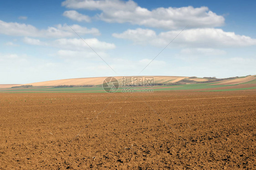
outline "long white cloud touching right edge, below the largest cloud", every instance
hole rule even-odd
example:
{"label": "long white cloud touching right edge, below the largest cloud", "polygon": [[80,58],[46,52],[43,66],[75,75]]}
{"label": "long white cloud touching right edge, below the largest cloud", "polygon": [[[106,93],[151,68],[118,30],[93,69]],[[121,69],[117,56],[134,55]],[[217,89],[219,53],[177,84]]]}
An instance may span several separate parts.
{"label": "long white cloud touching right edge, below the largest cloud", "polygon": [[[136,30],[126,30],[121,34],[114,33],[113,36],[116,38],[132,40],[135,44],[165,46],[179,33],[180,30],[173,30],[161,32],[157,35],[154,30],[138,28]],[[214,28],[184,30],[172,43],[172,46],[186,48],[223,48],[244,47],[250,45],[256,45],[256,39]]]}

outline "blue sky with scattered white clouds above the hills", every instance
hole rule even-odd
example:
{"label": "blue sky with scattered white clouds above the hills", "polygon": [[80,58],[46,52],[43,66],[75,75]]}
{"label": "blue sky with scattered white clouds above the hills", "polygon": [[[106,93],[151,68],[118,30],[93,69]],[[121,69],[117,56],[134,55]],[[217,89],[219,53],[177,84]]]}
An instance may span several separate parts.
{"label": "blue sky with scattered white clouds above the hills", "polygon": [[[256,74],[256,2],[0,2],[0,84],[80,77]],[[70,25],[115,72],[68,26]]]}

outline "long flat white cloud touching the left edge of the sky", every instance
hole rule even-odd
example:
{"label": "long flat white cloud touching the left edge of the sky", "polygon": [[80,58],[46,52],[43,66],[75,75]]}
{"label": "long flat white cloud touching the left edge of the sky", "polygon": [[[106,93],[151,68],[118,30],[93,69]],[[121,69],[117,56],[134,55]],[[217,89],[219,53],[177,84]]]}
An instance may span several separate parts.
{"label": "long flat white cloud touching the left edge of the sky", "polygon": [[[78,34],[99,35],[100,32],[96,28],[88,29],[80,25],[71,25],[72,29]],[[48,27],[46,30],[39,30],[33,25],[20,24],[16,22],[5,22],[0,20],[0,34],[12,36],[28,36],[28,37],[48,37],[62,38],[77,36],[67,24],[56,25],[56,27]]]}

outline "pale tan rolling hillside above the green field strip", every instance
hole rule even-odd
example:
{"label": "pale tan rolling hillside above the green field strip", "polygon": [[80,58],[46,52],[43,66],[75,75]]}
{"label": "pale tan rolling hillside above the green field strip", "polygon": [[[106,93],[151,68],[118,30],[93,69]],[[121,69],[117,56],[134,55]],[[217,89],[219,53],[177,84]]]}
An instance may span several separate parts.
{"label": "pale tan rolling hillside above the green field strip", "polygon": [[[125,76],[128,77],[128,76]],[[246,84],[256,81],[256,75],[248,75],[244,77],[230,77],[225,79],[217,79],[215,77],[183,77],[183,76],[130,76],[130,77],[154,77],[154,85],[184,85],[184,84],[198,84],[206,82],[214,82],[215,85],[235,85]],[[103,80],[107,77],[92,77],[92,78],[77,78],[64,80],[51,80],[37,83],[29,83],[24,85],[0,85],[0,88],[10,88],[15,86],[26,87],[32,86],[99,86],[102,85]],[[115,77],[121,84],[123,76]],[[256,83],[256,82],[255,82]]]}

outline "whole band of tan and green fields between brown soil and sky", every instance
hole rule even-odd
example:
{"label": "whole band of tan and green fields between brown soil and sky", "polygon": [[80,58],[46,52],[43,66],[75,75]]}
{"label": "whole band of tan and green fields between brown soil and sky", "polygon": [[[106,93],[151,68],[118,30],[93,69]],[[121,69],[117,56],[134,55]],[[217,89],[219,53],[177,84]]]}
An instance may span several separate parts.
{"label": "whole band of tan and green fields between brown soil and sky", "polygon": [[[136,77],[136,76],[134,76]],[[147,76],[142,76],[143,79]],[[153,91],[227,91],[227,90],[249,90],[256,88],[256,76],[232,77],[225,79],[202,79],[194,77],[179,76],[149,76],[154,77],[153,86],[123,86],[124,77],[115,77],[119,82],[117,92],[125,88],[131,89],[153,89]],[[106,77],[79,78],[52,80],[24,85],[0,85],[0,93],[105,93],[102,82]],[[133,82],[132,82],[133,83]]]}

